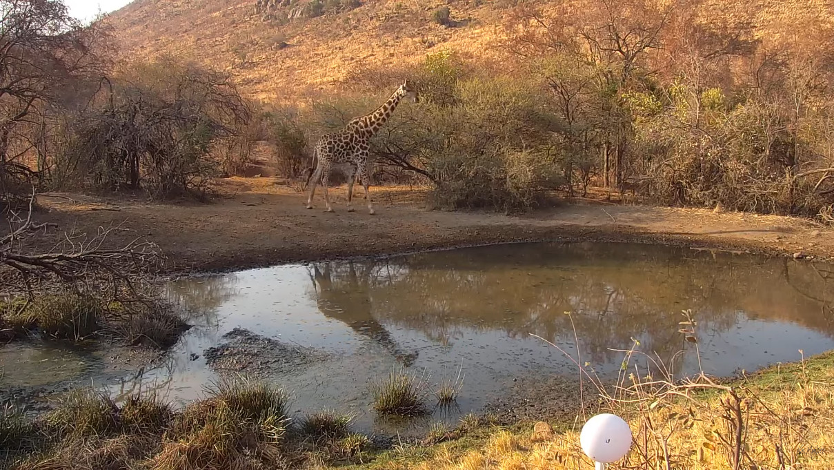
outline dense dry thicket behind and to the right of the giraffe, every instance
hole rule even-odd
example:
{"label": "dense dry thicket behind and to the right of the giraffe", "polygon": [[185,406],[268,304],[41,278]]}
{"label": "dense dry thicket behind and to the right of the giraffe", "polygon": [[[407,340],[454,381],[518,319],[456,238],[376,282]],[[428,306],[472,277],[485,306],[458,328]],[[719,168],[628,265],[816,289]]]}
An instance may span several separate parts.
{"label": "dense dry thicket behind and to the right of the giraffe", "polygon": [[812,8],[772,21],[748,10],[515,2],[511,73],[449,52],[358,70],[313,107],[307,134],[374,109],[407,77],[421,104],[397,110],[374,157],[389,174],[419,174],[445,205],[525,208],[548,190],[600,186],[831,221],[834,33]]}

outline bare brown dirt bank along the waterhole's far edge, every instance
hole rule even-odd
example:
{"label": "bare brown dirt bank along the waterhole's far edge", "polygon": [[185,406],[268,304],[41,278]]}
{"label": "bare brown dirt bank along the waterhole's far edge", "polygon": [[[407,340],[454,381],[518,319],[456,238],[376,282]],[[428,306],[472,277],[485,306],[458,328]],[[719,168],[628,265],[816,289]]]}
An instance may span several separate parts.
{"label": "bare brown dirt bank along the waterhole's far edge", "polygon": [[227,197],[207,205],[43,195],[38,202],[47,211],[38,221],[58,228],[35,248],[48,249],[73,228],[95,233],[119,225],[108,243],[153,240],[170,256],[173,272],[521,240],[650,241],[834,259],[834,230],[787,217],[590,200],[520,217],[445,212],[427,210],[425,191],[407,188],[372,188],[377,215],[369,215],[361,196],[356,212],[346,211],[344,187],[332,191],[336,212],[327,214],[320,191],[316,208],[305,210],[303,194],[271,178],[227,179],[221,190]]}

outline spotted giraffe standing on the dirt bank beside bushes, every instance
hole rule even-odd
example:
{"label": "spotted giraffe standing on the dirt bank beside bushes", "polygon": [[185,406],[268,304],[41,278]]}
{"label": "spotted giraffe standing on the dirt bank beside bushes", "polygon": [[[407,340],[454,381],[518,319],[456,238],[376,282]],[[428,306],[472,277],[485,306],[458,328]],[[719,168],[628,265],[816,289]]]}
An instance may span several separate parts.
{"label": "spotted giraffe standing on the dirt bank beside bushes", "polygon": [[417,90],[409,80],[405,80],[391,97],[374,112],[351,119],[343,129],[332,134],[325,134],[319,139],[313,149],[315,169],[312,167],[307,169],[307,183],[304,184],[306,186],[310,183],[310,180],[313,181],[307,195],[307,209],[313,209],[313,195],[320,180],[324,191],[324,203],[327,205],[326,212],[333,212],[327,192],[327,183],[331,169],[339,169],[346,172],[348,176],[348,212],[354,211],[354,182],[358,176],[364,186],[368,212],[370,215],[374,215],[374,206],[371,205],[368,192],[370,181],[368,141],[391,117],[394,109],[404,98],[409,98],[414,103],[418,102]]}

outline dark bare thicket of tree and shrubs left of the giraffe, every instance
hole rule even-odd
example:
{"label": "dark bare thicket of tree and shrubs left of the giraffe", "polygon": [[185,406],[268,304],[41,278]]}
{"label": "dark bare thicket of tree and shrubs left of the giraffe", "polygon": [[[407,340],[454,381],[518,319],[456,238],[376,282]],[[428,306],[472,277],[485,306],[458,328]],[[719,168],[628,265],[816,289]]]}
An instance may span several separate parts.
{"label": "dark bare thicket of tree and shrubs left of the giraffe", "polygon": [[164,58],[117,66],[110,44],[61,0],[0,1],[0,209],[33,186],[203,195],[243,169],[257,136],[228,76]]}

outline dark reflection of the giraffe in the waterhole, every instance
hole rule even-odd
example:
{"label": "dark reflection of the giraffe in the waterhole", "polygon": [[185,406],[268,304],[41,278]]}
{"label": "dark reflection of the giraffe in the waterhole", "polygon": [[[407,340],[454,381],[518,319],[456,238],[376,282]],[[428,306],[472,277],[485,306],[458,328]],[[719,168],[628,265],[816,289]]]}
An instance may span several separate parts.
{"label": "dark reflection of the giraffe in the waterhole", "polygon": [[397,344],[391,333],[377,321],[371,311],[370,277],[372,264],[313,263],[308,267],[315,289],[319,311],[350,326],[359,335],[389,351],[404,366],[411,366],[417,352],[406,352]]}

